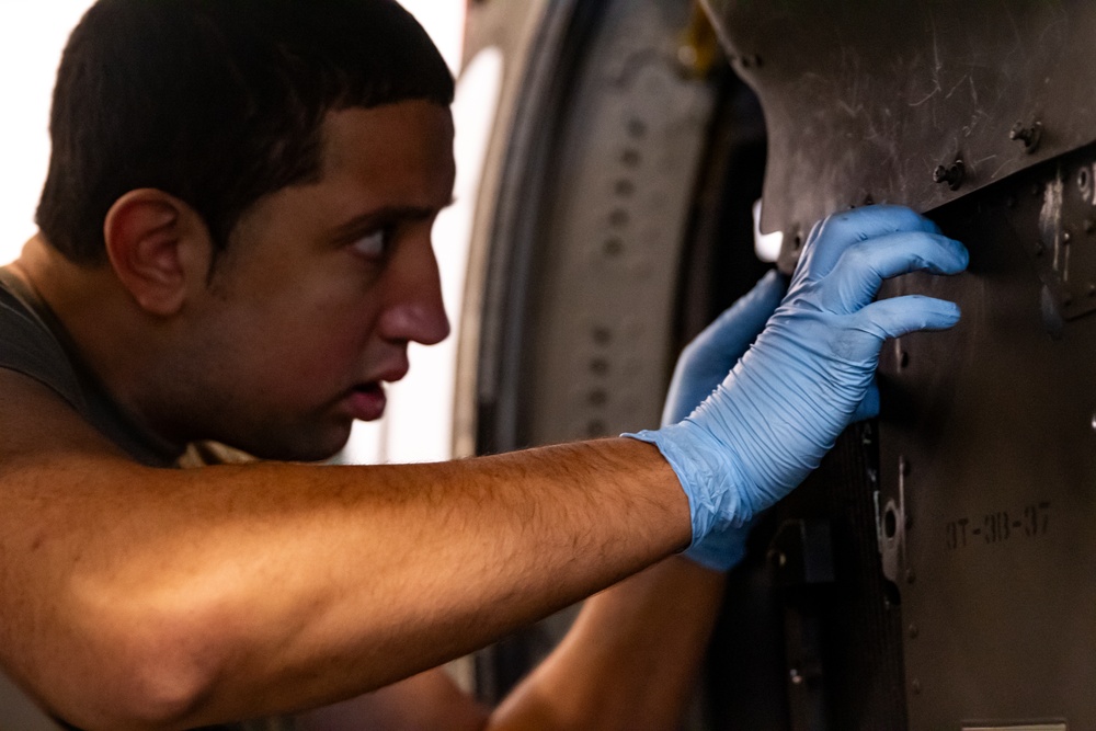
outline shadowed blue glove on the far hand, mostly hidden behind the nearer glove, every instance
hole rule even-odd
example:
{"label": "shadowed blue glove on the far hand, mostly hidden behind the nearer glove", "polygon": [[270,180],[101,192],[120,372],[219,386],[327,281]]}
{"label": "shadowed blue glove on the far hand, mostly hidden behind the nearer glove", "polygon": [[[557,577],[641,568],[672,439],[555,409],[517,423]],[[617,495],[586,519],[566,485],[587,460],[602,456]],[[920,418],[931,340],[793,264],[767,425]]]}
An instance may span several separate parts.
{"label": "shadowed blue glove on the far hand, mostly hidden behind the nearer glove", "polygon": [[[765,328],[786,289],[787,279],[769,272],[682,351],[662,410],[663,426],[689,415],[716,390]],[[728,571],[745,555],[750,527],[716,530],[684,555],[707,569]]]}

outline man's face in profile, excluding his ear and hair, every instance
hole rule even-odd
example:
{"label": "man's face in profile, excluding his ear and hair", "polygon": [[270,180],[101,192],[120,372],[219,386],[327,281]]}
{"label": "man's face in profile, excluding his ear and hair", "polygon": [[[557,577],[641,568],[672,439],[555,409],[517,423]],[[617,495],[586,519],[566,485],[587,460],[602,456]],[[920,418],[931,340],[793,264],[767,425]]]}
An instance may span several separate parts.
{"label": "man's face in profile, excluding his ear and hair", "polygon": [[320,182],[256,203],[189,313],[181,384],[206,401],[175,425],[189,436],[329,457],[355,419],[381,415],[408,344],[449,332],[431,245],[453,194],[449,111],[335,112],[324,137]]}

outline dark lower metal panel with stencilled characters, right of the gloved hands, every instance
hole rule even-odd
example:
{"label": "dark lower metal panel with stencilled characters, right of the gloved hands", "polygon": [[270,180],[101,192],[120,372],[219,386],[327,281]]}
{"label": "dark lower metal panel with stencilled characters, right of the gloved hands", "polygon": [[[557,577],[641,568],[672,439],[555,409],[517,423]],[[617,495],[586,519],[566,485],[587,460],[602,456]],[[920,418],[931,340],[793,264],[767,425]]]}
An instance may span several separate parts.
{"label": "dark lower metal panel with stencilled characters, right of the gloved hands", "polygon": [[886,292],[963,308],[882,366],[880,502],[904,504],[915,731],[1096,728],[1094,162],[1085,148],[936,212],[970,272]]}

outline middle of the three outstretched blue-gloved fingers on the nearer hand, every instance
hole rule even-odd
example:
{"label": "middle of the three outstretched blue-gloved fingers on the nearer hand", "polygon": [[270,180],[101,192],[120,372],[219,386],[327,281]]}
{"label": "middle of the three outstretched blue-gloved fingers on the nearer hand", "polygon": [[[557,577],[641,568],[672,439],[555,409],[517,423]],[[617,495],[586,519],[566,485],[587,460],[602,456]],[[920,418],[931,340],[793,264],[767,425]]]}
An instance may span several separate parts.
{"label": "middle of the three outstretched blue-gloved fingers on the nearer hand", "polygon": [[938,233],[891,233],[861,241],[845,249],[819,285],[818,304],[830,312],[855,312],[875,299],[883,279],[916,271],[958,274],[969,259],[966,247]]}

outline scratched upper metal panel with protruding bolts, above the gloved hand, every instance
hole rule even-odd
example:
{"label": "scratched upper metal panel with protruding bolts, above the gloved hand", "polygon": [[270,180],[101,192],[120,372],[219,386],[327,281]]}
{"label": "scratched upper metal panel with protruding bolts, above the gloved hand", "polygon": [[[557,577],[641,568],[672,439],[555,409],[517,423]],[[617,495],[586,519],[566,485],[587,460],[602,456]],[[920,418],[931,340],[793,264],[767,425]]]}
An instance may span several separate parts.
{"label": "scratched upper metal panel with protruding bolts, above the gloved hand", "polygon": [[834,210],[929,210],[1096,139],[1089,0],[703,3],[765,108],[789,254]]}

